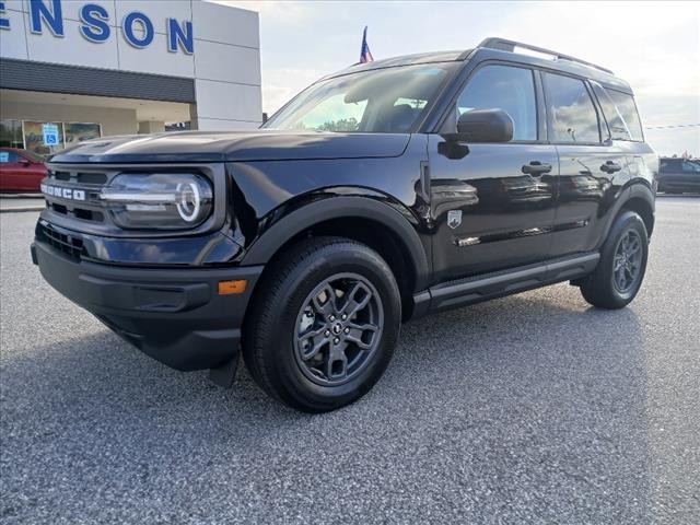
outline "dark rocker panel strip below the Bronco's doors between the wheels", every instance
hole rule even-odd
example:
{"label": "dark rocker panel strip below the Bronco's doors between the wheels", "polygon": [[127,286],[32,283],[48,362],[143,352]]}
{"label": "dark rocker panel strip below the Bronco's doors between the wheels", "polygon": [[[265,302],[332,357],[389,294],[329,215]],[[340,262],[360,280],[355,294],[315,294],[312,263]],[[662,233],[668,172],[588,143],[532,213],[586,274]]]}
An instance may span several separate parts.
{"label": "dark rocker panel strip below the Bronco's doors between the wheels", "polygon": [[[419,311],[441,312],[556,282],[580,279],[595,270],[599,259],[600,254],[596,252],[445,282],[417,294],[416,311],[417,314]],[[429,306],[425,304],[428,301]]]}

